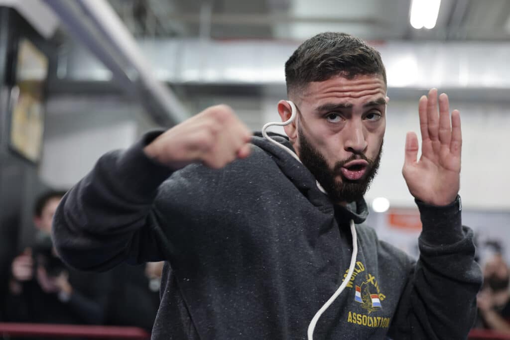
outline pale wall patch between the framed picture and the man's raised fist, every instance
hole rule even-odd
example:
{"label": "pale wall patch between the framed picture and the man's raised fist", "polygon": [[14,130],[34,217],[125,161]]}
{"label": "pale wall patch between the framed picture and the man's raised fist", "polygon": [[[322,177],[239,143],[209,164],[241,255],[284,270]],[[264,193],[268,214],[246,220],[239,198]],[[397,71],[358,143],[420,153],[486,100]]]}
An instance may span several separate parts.
{"label": "pale wall patch between the framed picture and the man's raised fist", "polygon": [[115,97],[54,98],[46,111],[39,175],[55,188],[70,188],[102,154],[128,147],[150,126],[138,105]]}

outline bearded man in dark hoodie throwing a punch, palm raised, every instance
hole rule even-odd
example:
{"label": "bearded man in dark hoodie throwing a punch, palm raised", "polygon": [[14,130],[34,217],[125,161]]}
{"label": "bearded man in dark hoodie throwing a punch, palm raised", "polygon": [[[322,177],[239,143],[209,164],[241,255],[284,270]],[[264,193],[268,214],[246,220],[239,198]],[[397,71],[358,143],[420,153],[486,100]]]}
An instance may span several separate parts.
{"label": "bearded man in dark hoodie throwing a punch, palm raised", "polygon": [[[104,155],[58,208],[59,253],[90,270],[166,260],[153,339],[465,338],[481,274],[461,225],[458,111],[450,125],[443,94],[438,116],[431,90],[419,161],[416,135],[406,138],[403,174],[423,221],[415,263],[360,225],[386,125],[380,55],[324,33],[285,70],[298,112],[288,139],[274,139],[302,163],[264,138],[250,144],[228,107],[208,108]],[[291,110],[278,103],[283,121]]]}

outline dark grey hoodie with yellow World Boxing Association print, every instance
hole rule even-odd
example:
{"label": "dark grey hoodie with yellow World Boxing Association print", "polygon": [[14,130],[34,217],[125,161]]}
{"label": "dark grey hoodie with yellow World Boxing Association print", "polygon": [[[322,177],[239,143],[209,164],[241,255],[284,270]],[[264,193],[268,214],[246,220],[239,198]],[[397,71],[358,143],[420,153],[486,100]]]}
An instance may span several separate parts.
{"label": "dark grey hoodie with yellow World Boxing Association print", "polygon": [[[59,254],[84,270],[165,260],[152,339],[462,339],[475,317],[481,273],[460,199],[417,202],[423,231],[414,261],[362,225],[364,200],[334,205],[289,153],[253,137],[252,153],[220,170],[171,173],[147,158],[150,133],[102,156],[63,198]],[[290,147],[284,137],[275,137]]]}

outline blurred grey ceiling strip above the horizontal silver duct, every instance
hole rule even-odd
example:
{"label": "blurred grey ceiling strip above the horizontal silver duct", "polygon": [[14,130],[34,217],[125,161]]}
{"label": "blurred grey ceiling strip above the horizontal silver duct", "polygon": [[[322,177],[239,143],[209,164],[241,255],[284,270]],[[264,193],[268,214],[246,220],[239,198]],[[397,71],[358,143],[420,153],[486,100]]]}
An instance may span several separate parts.
{"label": "blurred grey ceiling strip above the horizontal silver duct", "polygon": [[510,40],[510,1],[443,0],[415,30],[411,0],[109,0],[135,37],[303,40],[323,31],[367,40]]}

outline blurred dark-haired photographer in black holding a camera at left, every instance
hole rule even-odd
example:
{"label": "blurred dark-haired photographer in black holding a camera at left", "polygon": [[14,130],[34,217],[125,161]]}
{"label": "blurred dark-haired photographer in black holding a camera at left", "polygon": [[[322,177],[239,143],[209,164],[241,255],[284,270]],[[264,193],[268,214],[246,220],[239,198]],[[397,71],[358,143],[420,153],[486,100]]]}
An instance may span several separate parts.
{"label": "blurred dark-haired photographer in black holding a camera at left", "polygon": [[78,272],[56,256],[50,233],[65,192],[49,191],[35,204],[36,242],[14,258],[7,299],[13,322],[100,324],[110,290],[105,274]]}

